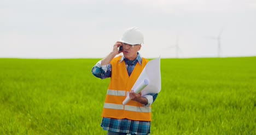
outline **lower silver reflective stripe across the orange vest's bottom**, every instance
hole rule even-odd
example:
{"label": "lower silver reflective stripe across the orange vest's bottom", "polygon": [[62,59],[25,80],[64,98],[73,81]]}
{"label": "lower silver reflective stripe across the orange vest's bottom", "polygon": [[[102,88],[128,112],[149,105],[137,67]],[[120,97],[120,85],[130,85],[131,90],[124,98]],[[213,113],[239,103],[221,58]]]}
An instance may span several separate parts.
{"label": "lower silver reflective stripe across the orange vest's bottom", "polygon": [[104,108],[108,109],[117,109],[117,110],[129,110],[129,111],[136,111],[142,113],[150,113],[151,107],[135,107],[132,105],[122,105],[122,104],[112,104],[112,103],[104,103]]}

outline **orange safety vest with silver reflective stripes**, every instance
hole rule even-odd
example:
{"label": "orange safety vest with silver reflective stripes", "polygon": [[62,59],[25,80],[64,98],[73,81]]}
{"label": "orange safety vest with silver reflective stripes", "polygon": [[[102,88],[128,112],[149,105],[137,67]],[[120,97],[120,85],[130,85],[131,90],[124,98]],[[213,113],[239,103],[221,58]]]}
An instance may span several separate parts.
{"label": "orange safety vest with silver reflective stripes", "polygon": [[128,92],[148,63],[146,58],[142,58],[142,64],[137,62],[130,77],[126,70],[125,62],[120,62],[122,56],[115,57],[110,62],[112,75],[108,86],[102,117],[115,119],[130,119],[136,121],[151,121],[151,106],[144,107],[141,103],[130,101],[123,105]]}

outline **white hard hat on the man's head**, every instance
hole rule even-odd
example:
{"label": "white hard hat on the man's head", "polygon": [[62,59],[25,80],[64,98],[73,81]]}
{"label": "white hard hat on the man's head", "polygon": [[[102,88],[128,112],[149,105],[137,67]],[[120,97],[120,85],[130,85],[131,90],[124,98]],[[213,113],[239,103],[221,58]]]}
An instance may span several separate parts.
{"label": "white hard hat on the man's head", "polygon": [[120,42],[135,45],[135,44],[142,44],[143,39],[144,38],[141,30],[139,30],[139,28],[137,27],[131,27],[125,30],[122,38],[120,39]]}

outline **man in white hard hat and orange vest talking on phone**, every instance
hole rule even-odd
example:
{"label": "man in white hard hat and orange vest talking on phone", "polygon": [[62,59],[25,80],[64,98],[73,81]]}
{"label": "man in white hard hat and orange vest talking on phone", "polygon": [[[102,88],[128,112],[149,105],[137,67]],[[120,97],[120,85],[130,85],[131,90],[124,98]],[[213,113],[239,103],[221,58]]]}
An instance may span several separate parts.
{"label": "man in white hard hat and orange vest talking on phone", "polygon": [[[114,44],[112,52],[92,68],[95,77],[110,77],[101,122],[108,135],[150,133],[151,105],[158,94],[151,93],[142,97],[141,93],[131,90],[148,63],[138,52],[142,43],[141,30],[136,27],[128,28],[120,41]],[[121,52],[123,56],[115,57]],[[131,101],[123,105],[127,94]]]}

